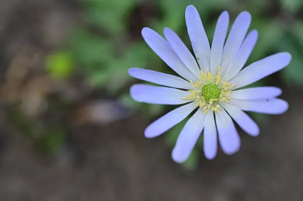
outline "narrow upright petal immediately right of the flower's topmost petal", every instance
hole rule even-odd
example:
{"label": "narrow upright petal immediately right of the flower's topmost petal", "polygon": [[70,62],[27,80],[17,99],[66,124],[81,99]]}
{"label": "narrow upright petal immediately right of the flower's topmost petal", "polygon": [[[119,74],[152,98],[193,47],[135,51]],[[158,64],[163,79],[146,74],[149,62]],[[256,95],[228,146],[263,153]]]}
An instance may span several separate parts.
{"label": "narrow upright petal immediately right of the flower's topmost petal", "polygon": [[223,54],[223,46],[229,24],[229,15],[224,11],[218,18],[211,51],[211,73],[217,74]]}

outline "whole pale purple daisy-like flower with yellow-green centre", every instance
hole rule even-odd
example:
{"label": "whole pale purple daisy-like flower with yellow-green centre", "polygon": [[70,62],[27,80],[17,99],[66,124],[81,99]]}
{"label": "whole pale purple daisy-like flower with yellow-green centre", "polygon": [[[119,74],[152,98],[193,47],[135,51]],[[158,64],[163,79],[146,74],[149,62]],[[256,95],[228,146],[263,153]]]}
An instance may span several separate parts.
{"label": "whole pale purple daisy-like flower with yellow-green centre", "polygon": [[172,158],[178,163],[189,157],[202,131],[206,158],[216,156],[217,138],[226,154],[237,152],[240,137],[233,120],[249,135],[258,136],[258,125],[243,111],[284,113],[288,109],[287,102],[276,98],[282,93],[281,89],[238,88],[283,69],[291,60],[289,53],[281,52],[241,70],[258,39],[256,30],[246,36],[251,20],[248,12],[237,16],[225,42],[229,15],[224,11],[217,21],[211,46],[193,6],[186,8],[185,20],[196,59],[171,29],[164,29],[166,39],[150,28],[142,29],[148,46],[184,79],[139,68],[129,70],[134,78],[166,86],[135,84],[130,89],[135,101],[168,105],[186,103],[151,123],[144,131],[146,138],[160,136],[196,109],[181,130],[172,151]]}

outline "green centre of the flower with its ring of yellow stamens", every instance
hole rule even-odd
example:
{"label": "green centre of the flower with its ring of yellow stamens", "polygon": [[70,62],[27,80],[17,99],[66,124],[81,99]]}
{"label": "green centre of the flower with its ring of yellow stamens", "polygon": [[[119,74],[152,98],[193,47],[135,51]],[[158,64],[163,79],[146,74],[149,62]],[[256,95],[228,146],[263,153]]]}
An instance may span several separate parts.
{"label": "green centre of the flower with its ring of yellow stamens", "polygon": [[192,99],[196,105],[203,108],[204,113],[208,111],[217,111],[220,113],[220,102],[229,103],[230,92],[234,85],[221,80],[221,67],[218,68],[218,74],[214,77],[211,73],[205,73],[201,70],[199,80],[190,81],[194,90],[188,90],[191,94],[183,99]]}

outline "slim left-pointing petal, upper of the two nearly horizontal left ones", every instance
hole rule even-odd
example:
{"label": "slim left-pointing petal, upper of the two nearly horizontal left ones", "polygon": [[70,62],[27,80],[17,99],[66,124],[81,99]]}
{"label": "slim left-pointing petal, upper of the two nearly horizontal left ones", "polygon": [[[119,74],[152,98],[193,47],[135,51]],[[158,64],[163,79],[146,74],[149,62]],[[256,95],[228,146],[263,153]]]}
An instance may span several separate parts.
{"label": "slim left-pointing petal, upper of the two nearly horizontal left ones", "polygon": [[179,78],[177,76],[160,73],[157,71],[151,71],[147,69],[139,69],[139,68],[131,68],[128,70],[128,73],[130,76],[144,80],[147,82],[156,83],[159,85],[164,85],[167,87],[174,87],[179,89],[188,89],[192,90],[192,85],[187,82],[186,80],[183,80],[182,78]]}

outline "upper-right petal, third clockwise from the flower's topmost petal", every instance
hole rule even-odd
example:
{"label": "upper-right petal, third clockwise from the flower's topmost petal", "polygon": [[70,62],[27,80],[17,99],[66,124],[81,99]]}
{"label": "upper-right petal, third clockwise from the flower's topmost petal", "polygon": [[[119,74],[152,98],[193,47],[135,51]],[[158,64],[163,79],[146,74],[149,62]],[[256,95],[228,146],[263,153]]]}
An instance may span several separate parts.
{"label": "upper-right petal, third clockwise from the flower's topmost petal", "polygon": [[248,57],[250,56],[252,50],[254,49],[257,40],[258,40],[258,31],[257,30],[250,31],[246,36],[246,38],[244,39],[240,49],[234,55],[231,65],[229,66],[224,76],[225,80],[230,80],[239,73],[239,71],[243,68],[244,64],[248,60]]}

